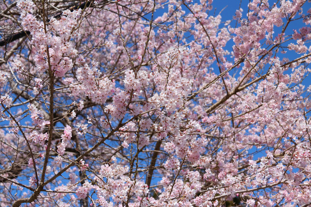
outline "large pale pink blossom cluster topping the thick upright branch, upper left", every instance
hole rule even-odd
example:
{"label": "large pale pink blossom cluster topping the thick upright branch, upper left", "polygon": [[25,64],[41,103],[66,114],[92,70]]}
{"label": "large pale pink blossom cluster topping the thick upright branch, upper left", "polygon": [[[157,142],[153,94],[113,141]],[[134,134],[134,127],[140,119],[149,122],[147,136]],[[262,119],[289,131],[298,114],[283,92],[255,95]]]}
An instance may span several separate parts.
{"label": "large pale pink blossom cluster topping the thick upright branch, upper left", "polygon": [[[35,46],[38,55],[35,56],[35,64],[39,72],[50,69],[58,77],[72,68],[72,60],[68,56],[77,56],[77,50],[72,47],[68,41],[75,36],[79,37],[79,33],[75,30],[78,25],[78,19],[81,9],[74,11],[64,11],[59,20],[51,18],[48,25],[49,30],[53,30],[59,36],[45,32],[43,22],[37,20],[33,15],[34,3],[31,1],[20,0],[17,7],[21,12],[21,25],[25,30],[33,33],[31,43]],[[63,56],[66,54],[67,56]],[[47,60],[49,57],[49,60]],[[21,70],[21,64],[15,61],[14,68]]]}

